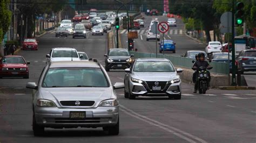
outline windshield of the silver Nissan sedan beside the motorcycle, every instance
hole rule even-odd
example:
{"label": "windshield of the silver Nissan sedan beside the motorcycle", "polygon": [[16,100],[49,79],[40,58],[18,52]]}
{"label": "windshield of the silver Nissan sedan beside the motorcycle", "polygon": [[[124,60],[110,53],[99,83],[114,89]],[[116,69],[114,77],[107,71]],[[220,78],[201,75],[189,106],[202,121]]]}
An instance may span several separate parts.
{"label": "windshield of the silver Nissan sedan beside the motorcycle", "polygon": [[139,61],[134,65],[136,72],[173,72],[175,71],[170,62],[167,61]]}

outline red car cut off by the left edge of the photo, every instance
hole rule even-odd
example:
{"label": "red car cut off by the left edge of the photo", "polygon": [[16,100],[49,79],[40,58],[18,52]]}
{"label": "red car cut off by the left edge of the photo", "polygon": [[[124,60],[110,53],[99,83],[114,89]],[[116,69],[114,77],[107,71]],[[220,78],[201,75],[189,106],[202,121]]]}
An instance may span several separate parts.
{"label": "red car cut off by the left edge of the photo", "polygon": [[30,62],[26,62],[23,56],[6,55],[0,60],[0,78],[23,77],[29,78]]}

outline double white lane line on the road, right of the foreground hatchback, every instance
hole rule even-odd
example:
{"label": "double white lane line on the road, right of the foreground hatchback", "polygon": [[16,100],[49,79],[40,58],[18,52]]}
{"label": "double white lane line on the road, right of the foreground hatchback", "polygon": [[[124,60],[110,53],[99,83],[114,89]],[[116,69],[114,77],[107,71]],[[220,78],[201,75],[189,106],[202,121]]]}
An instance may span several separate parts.
{"label": "double white lane line on the road, right of the foreground hatchback", "polygon": [[[149,117],[146,117],[146,116],[143,116],[143,115],[140,115],[139,113],[136,113],[134,112],[133,110],[130,110],[130,109],[127,109],[125,106],[123,105],[120,105],[120,110],[125,112],[127,115],[130,115],[134,118],[137,118],[139,120],[143,120],[145,121],[146,123],[149,123],[150,125],[153,125],[153,126],[157,126],[159,128],[162,128],[163,130],[167,131],[167,132],[170,132],[174,135],[177,135],[177,137],[180,137],[188,142],[196,142],[194,140],[197,140],[197,141],[200,141],[200,142],[204,142],[206,143],[205,140],[203,139],[200,139],[190,133],[187,133],[185,131],[182,131],[182,130],[179,130],[178,128],[176,127],[172,127],[172,126],[169,126],[169,125],[166,125],[166,124],[163,124],[163,123],[160,123],[159,121],[157,120],[153,120]],[[184,135],[187,135],[187,137],[185,137]],[[194,140],[192,140],[194,139]]]}

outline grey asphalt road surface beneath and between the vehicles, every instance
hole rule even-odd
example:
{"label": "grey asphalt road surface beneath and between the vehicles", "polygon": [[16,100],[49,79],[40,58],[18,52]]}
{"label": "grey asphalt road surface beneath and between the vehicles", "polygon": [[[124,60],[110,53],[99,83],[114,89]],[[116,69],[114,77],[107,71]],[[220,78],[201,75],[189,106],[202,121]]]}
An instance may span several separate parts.
{"label": "grey asphalt road surface beneath and between the vehicles", "polygon": [[[149,21],[146,17],[147,24]],[[55,33],[48,33],[38,38],[38,51],[19,52],[31,62],[30,78],[0,79],[0,142],[256,142],[254,90],[210,89],[207,94],[199,95],[193,94],[193,85],[186,83],[182,84],[181,100],[167,97],[130,100],[124,98],[123,89],[117,90],[119,135],[107,135],[102,128],[46,128],[45,137],[33,137],[31,90],[25,89],[26,82],[37,82],[45,66],[45,55],[52,47],[75,47],[104,65],[106,34],[87,34],[86,39],[72,39],[72,36],[56,38]],[[177,54],[199,45],[184,35],[170,37],[177,41],[180,49]],[[136,39],[139,51],[153,51],[154,44],[145,38]],[[112,83],[123,82],[123,70],[108,73]]]}

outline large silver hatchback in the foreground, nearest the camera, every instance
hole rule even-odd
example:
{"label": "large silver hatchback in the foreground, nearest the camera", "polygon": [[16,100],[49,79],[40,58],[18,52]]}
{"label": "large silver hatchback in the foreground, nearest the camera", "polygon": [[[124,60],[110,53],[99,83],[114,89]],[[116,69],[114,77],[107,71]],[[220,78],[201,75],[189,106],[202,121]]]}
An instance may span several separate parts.
{"label": "large silver hatchback in the foreground, nearest the camera", "polygon": [[44,129],[103,127],[119,133],[119,104],[105,69],[97,61],[58,61],[46,65],[38,83],[29,82],[32,92],[32,128],[35,136]]}

